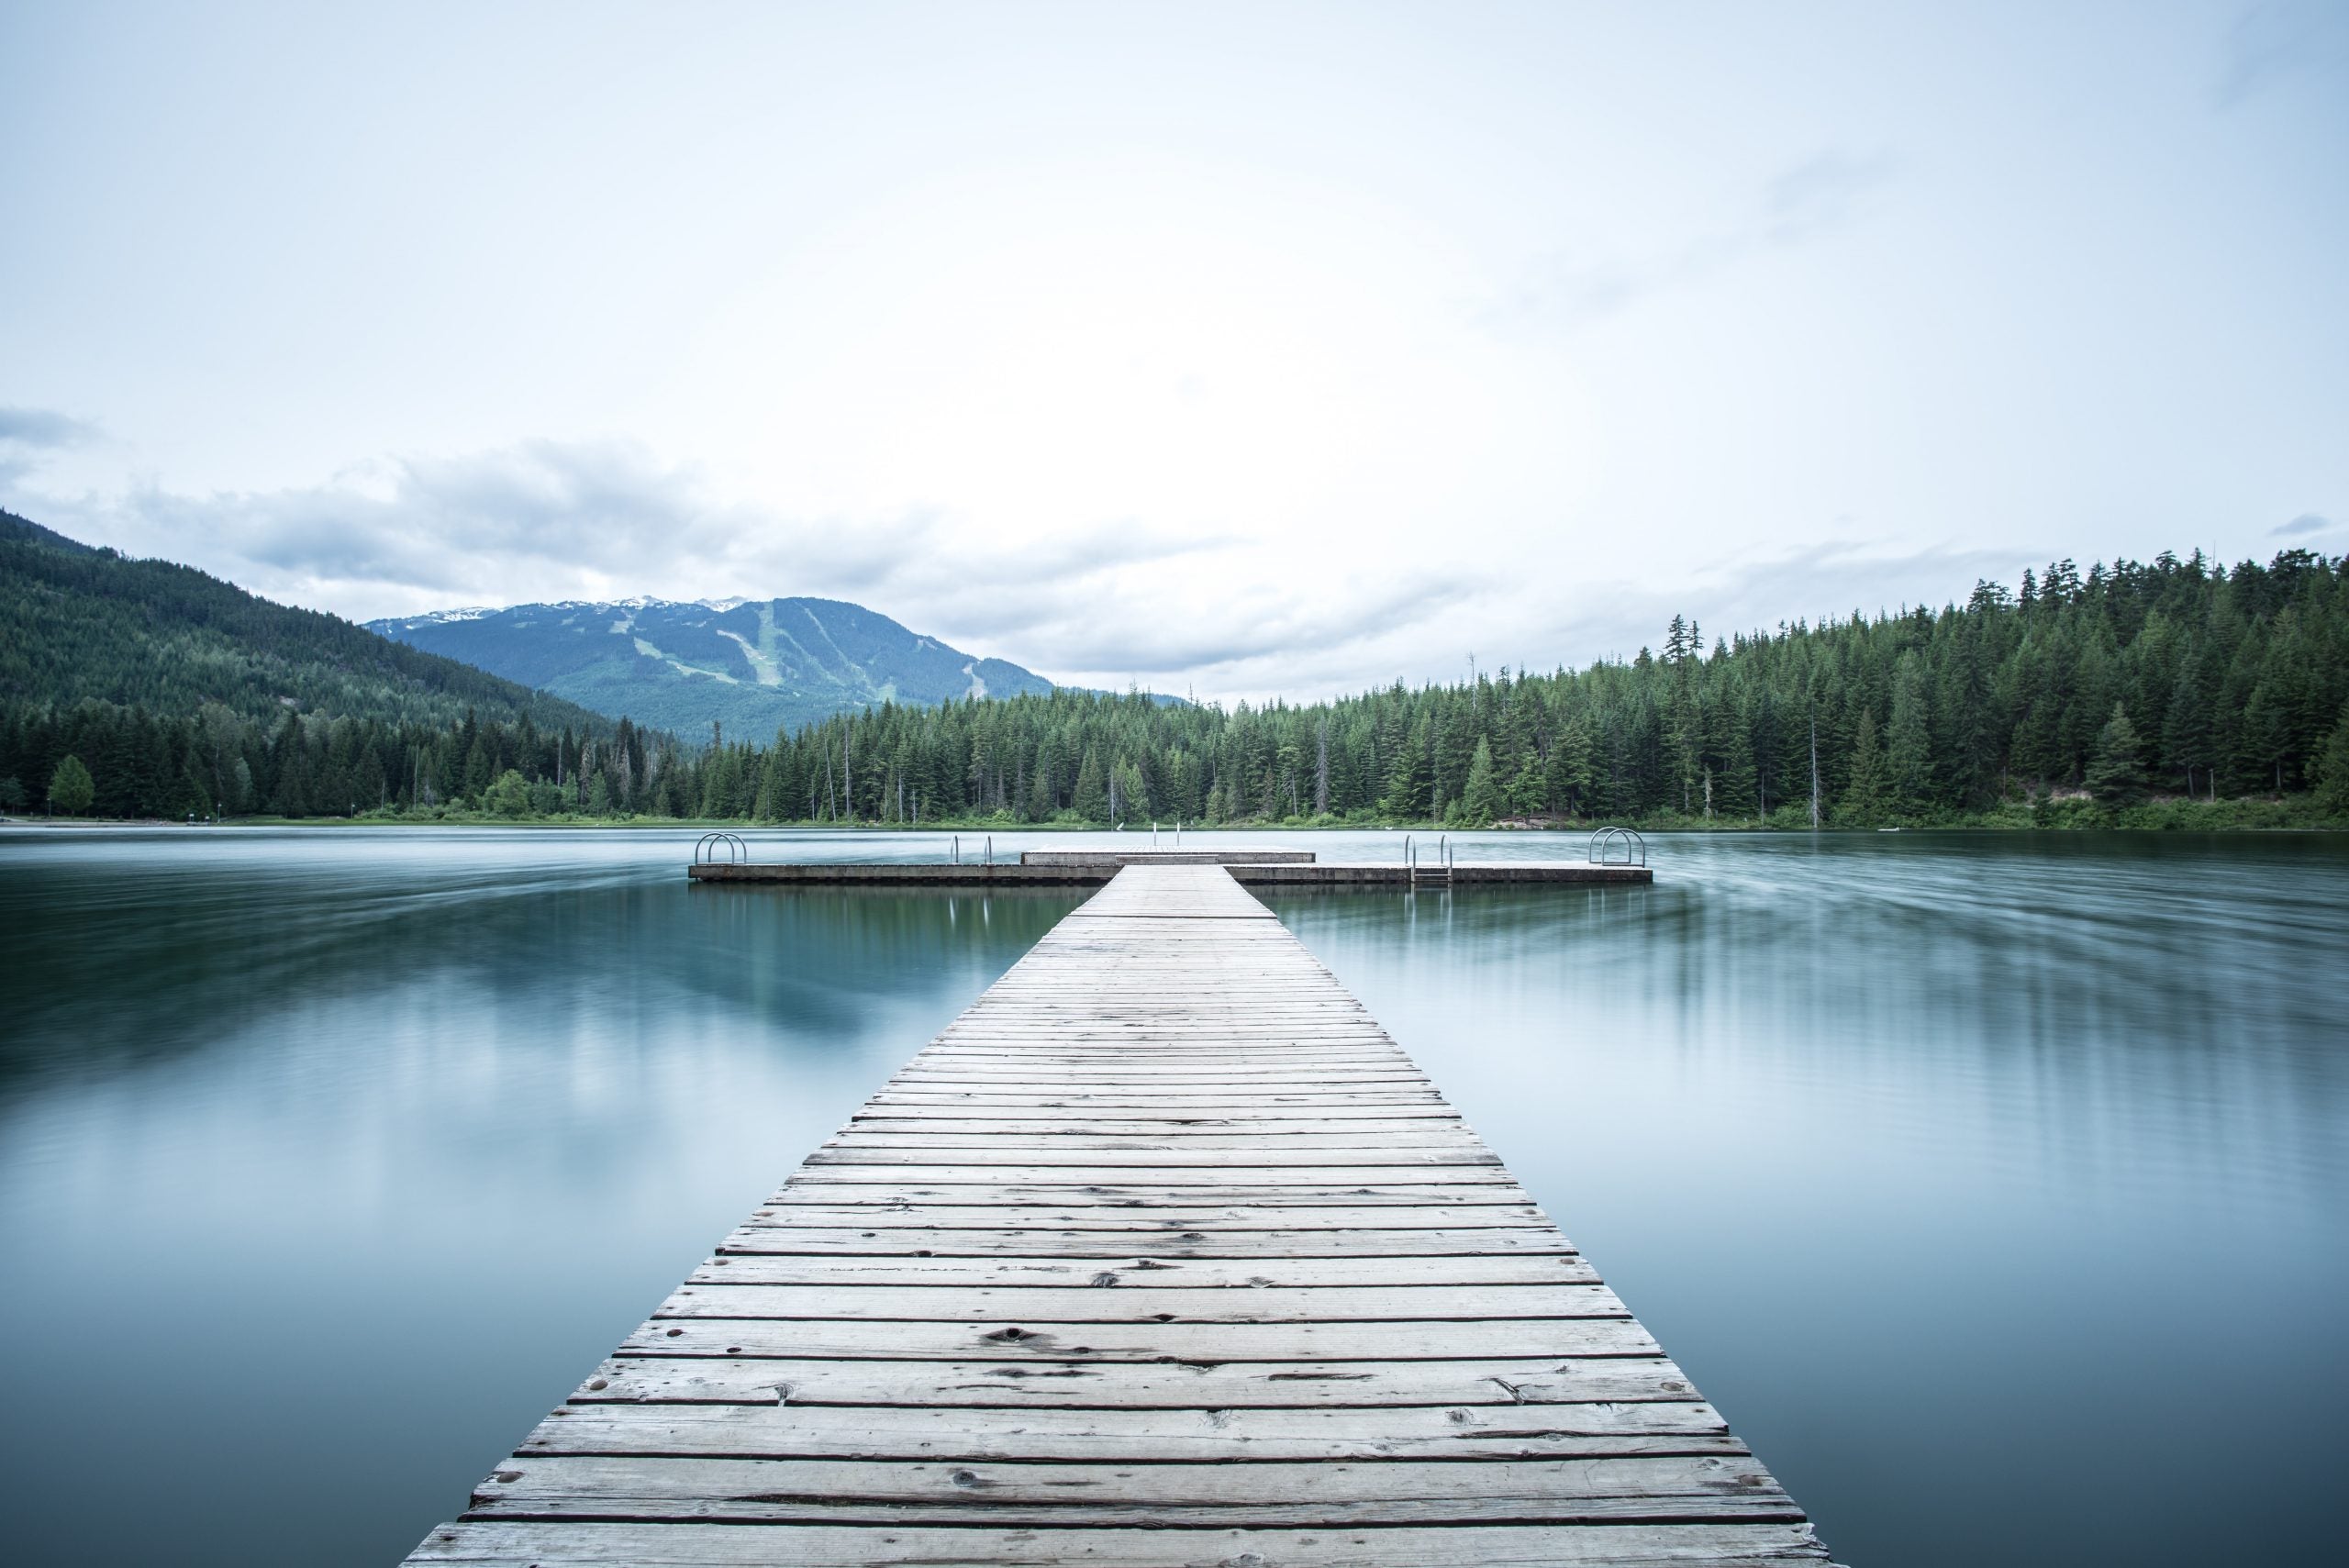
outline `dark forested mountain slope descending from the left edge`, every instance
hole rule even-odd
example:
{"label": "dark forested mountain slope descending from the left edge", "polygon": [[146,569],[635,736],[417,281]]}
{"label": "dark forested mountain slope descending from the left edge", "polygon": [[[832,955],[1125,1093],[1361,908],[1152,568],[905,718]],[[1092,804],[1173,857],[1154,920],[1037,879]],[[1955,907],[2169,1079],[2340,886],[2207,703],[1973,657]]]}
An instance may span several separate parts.
{"label": "dark forested mountain slope descending from the left edge", "polygon": [[305,714],[453,725],[529,716],[608,735],[611,721],[338,615],[247,594],[193,566],[134,561],[0,512],[0,704],[80,702],[247,718]]}

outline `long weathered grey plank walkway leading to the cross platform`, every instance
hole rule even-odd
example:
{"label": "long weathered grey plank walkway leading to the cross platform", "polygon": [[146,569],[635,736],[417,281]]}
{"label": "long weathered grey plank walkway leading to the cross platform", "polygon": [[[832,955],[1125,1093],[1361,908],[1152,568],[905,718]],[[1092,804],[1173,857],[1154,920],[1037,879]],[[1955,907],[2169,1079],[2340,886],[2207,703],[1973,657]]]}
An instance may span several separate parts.
{"label": "long weathered grey plank walkway leading to the cross platform", "polygon": [[1823,1563],[1214,866],[1076,908],[413,1563]]}

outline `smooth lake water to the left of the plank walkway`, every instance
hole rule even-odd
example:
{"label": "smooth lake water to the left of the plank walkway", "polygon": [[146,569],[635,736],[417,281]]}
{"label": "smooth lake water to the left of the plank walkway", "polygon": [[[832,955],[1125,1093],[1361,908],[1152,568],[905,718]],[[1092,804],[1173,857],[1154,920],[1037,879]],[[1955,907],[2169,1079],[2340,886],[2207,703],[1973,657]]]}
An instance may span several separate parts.
{"label": "smooth lake water to the left of the plank walkway", "polygon": [[397,1561],[1073,904],[59,838],[0,840],[19,1561]]}

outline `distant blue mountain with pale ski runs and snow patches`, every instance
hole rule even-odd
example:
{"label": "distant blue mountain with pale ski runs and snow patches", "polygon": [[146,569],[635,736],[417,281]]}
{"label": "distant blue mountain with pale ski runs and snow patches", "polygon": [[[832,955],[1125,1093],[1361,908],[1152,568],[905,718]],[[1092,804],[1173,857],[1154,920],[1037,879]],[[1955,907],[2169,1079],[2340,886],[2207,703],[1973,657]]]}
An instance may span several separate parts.
{"label": "distant blue mountain with pale ski runs and snow patches", "polygon": [[972,657],[839,599],[566,601],[366,624],[688,739],[707,737],[714,721],[766,739],[881,702],[1052,690],[1029,669]]}

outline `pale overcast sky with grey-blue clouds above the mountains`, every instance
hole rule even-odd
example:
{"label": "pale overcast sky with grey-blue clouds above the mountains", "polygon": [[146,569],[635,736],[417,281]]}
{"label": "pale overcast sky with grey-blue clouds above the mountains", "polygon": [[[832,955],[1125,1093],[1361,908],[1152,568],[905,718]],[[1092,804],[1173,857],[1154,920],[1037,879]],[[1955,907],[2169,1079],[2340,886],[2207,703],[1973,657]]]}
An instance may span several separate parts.
{"label": "pale overcast sky with grey-blue clouds above the mountains", "polygon": [[0,507],[1318,699],[2349,549],[2349,2],[0,0]]}

